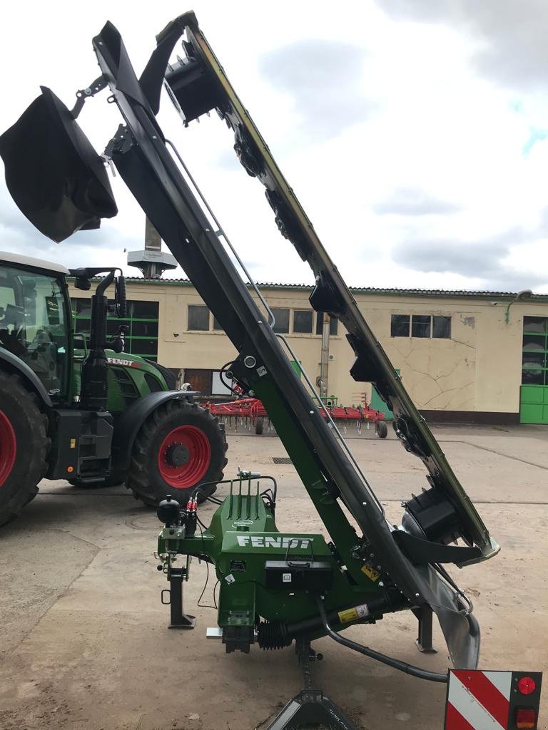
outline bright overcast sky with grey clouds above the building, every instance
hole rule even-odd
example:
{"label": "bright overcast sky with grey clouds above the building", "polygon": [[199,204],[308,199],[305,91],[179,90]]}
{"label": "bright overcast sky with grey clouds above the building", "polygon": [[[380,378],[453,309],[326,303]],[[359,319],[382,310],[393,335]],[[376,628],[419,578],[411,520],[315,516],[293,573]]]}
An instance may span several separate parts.
{"label": "bright overcast sky with grey clouds above the building", "polygon": [[[91,38],[106,20],[139,75],[155,34],[186,9],[347,283],[548,293],[546,0],[3,4],[0,130],[40,84],[72,107],[98,75]],[[99,152],[121,121],[106,97],[79,118]],[[164,99],[159,119],[255,279],[312,283],[217,115],[184,129]],[[0,248],[124,265],[144,214],[112,182],[117,218],[57,245],[2,179]]]}

